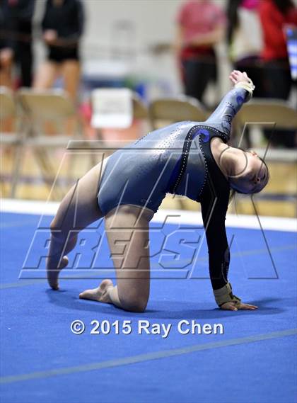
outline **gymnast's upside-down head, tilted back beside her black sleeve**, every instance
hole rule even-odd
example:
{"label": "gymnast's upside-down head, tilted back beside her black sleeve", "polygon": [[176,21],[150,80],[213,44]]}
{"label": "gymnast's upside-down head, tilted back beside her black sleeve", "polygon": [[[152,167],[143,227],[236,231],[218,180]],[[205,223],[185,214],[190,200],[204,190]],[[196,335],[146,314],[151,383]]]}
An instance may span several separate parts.
{"label": "gymnast's upside-down head, tilted back beside her black sleeve", "polygon": [[228,175],[233,191],[238,193],[259,193],[269,181],[269,169],[255,151],[235,149],[234,164]]}

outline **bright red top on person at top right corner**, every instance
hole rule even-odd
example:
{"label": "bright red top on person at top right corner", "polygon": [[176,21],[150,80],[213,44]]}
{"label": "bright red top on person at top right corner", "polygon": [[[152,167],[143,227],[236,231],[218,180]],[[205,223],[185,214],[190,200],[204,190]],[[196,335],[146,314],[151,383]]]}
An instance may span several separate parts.
{"label": "bright red top on person at top right corner", "polygon": [[262,59],[272,60],[288,57],[284,26],[286,24],[297,25],[297,8],[291,8],[284,15],[275,6],[274,1],[262,0],[259,11],[264,39]]}

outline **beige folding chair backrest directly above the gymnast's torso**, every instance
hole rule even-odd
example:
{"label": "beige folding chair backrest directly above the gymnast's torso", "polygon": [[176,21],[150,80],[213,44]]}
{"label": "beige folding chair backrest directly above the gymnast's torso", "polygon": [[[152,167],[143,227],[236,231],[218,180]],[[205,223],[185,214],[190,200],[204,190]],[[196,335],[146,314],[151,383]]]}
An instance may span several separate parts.
{"label": "beige folding chair backrest directly above the gymnast's torso", "polygon": [[201,103],[189,96],[156,99],[151,102],[148,113],[154,130],[182,120],[203,122],[208,117]]}

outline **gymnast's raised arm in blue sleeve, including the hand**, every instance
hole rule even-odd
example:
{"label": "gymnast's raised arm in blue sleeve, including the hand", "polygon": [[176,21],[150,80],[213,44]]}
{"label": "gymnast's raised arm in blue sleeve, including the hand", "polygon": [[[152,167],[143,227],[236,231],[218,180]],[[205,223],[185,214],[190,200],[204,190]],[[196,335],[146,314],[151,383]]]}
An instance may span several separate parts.
{"label": "gymnast's raised arm in blue sleeve, including the hand", "polygon": [[243,103],[250,100],[252,91],[255,89],[252,81],[245,73],[234,70],[229,78],[233,84],[235,84],[234,88],[223,97],[219,106],[214,110],[214,113],[206,120],[206,123],[209,123],[209,125],[223,132],[227,140],[229,140],[231,135],[233,118],[236,113],[238,113]]}

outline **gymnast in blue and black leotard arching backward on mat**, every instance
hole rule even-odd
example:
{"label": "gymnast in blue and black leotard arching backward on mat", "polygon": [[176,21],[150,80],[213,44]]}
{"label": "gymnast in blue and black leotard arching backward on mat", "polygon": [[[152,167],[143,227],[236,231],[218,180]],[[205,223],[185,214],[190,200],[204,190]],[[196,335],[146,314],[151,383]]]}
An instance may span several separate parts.
{"label": "gymnast in blue and black leotard arching backward on mat", "polygon": [[255,89],[246,73],[234,70],[229,78],[233,89],[205,122],[179,122],[149,132],[105,158],[71,188],[51,223],[47,280],[52,289],[59,288],[59,271],[68,264],[77,233],[104,217],[117,285],[106,279],[79,297],[144,312],[150,290],[148,225],[165,194],[172,193],[201,203],[216,304],[223,310],[257,309],[233,295],[228,282],[225,217],[231,191],[262,191],[269,171],[255,152],[227,144],[235,114]]}

